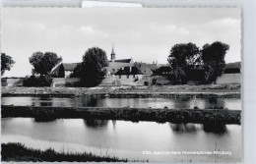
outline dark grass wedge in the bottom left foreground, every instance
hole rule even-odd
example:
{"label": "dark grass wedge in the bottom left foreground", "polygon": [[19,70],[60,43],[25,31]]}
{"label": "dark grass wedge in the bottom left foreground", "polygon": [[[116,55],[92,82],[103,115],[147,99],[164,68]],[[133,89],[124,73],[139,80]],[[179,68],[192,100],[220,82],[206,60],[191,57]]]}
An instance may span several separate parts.
{"label": "dark grass wedge in the bottom left foreground", "polygon": [[2,161],[37,161],[37,162],[53,162],[53,161],[67,161],[67,162],[128,162],[127,159],[118,159],[110,156],[97,156],[92,153],[64,153],[56,152],[52,148],[46,150],[39,150],[28,148],[24,144],[16,143],[2,143]]}

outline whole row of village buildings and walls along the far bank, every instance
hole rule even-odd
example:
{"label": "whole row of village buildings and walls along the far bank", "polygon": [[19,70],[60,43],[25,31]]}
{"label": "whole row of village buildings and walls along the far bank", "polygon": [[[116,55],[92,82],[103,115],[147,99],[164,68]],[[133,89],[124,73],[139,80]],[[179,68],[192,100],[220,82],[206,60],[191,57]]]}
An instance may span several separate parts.
{"label": "whole row of village buildings and walls along the far bank", "polygon": [[[99,86],[140,86],[140,85],[170,85],[169,75],[171,68],[167,64],[152,64],[136,62],[132,58],[118,59],[114,47],[109,54],[109,65],[106,68],[106,75]],[[82,63],[57,64],[51,71],[52,82],[50,87],[78,87],[80,77],[74,76],[74,70],[81,67]],[[228,63],[225,66],[224,74],[217,79],[215,84],[240,83],[240,62]],[[202,81],[202,67],[195,66],[189,72],[187,84],[200,84]],[[24,86],[26,78],[2,78],[2,86]]]}

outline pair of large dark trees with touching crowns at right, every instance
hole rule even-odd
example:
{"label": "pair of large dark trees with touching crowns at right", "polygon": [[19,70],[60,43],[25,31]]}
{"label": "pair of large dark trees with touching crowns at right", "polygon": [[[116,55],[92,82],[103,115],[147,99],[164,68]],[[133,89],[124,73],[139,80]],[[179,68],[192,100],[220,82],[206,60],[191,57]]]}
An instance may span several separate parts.
{"label": "pair of large dark trees with touching crowns at right", "polygon": [[169,78],[175,83],[186,83],[188,70],[199,66],[204,74],[203,83],[216,82],[224,74],[224,56],[228,49],[229,45],[221,41],[205,44],[202,48],[191,42],[175,44],[167,59],[171,69]]}

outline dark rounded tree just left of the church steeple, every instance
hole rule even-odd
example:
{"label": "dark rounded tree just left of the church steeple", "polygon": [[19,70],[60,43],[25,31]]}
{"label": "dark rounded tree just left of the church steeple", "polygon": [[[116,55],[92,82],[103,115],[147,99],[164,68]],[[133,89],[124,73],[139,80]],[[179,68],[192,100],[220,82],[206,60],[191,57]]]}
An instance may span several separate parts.
{"label": "dark rounded tree just left of the church steeple", "polygon": [[108,60],[104,50],[93,47],[89,48],[83,56],[82,62],[82,85],[96,86],[105,77]]}

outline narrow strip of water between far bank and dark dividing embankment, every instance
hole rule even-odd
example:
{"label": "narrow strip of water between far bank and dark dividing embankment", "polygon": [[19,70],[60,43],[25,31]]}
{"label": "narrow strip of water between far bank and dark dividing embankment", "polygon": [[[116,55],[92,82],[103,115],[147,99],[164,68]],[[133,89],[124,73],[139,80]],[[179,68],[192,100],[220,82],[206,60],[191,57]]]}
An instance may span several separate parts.
{"label": "narrow strip of water between far bank and dark dividing embankment", "polygon": [[200,109],[223,107],[231,110],[241,110],[239,98],[100,98],[100,97],[2,97],[2,105],[32,105],[32,106],[80,106],[80,107],[136,107],[136,108],[170,108]]}

